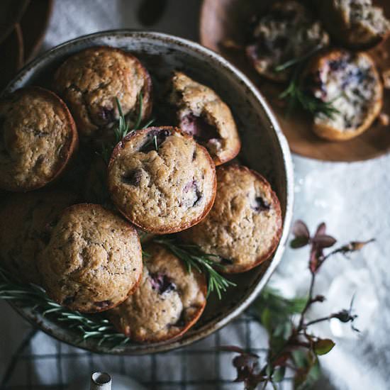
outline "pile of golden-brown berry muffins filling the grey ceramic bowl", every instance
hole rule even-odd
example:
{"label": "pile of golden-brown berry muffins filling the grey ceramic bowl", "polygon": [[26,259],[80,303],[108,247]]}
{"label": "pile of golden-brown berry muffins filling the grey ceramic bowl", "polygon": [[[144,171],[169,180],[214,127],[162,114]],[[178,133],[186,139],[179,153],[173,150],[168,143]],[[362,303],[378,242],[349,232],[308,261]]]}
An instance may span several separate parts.
{"label": "pile of golden-brown berry muffins filling the grey ceramic bowl", "polygon": [[[96,47],[57,69],[53,91],[27,87],[0,101],[1,266],[69,309],[106,311],[140,342],[186,332],[207,291],[205,275],[166,247],[142,248],[143,232],[177,233],[225,273],[269,259],[282,233],[267,180],[231,162],[240,138],[230,108],[182,72],[163,98],[152,98],[151,80],[130,53]],[[153,106],[172,126],[131,130],[113,145],[121,114],[133,128]],[[102,147],[108,164],[96,157]]]}

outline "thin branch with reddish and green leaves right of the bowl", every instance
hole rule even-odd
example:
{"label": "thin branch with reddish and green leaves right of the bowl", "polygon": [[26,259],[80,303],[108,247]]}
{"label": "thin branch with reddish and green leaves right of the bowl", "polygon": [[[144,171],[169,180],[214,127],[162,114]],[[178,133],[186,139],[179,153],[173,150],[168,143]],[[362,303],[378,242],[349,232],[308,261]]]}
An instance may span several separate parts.
{"label": "thin branch with reddish and green leaves right of the bowl", "polygon": [[268,384],[276,389],[277,384],[286,379],[287,372],[292,374],[289,379],[294,381],[295,389],[306,389],[311,386],[320,374],[318,357],[327,354],[335,346],[333,340],[313,335],[310,332],[312,325],[335,318],[342,323],[350,323],[352,330],[358,332],[353,325],[357,318],[353,313],[353,298],[350,308],[338,313],[330,313],[312,321],[306,316],[313,304],[325,301],[325,296],[313,295],[316,276],[323,263],[337,254],[348,257],[373,240],[352,241],[325,254],[325,249],[336,244],[335,238],[326,233],[325,223],[318,225],[316,233],[311,236],[306,224],[297,221],[293,234],[292,248],[310,247],[308,269],[311,273],[311,282],[308,296],[285,299],[277,291],[266,288],[252,305],[250,314],[262,323],[269,335],[269,346],[263,360],[240,347],[223,347],[225,351],[238,354],[233,359],[233,366],[237,370],[235,381],[243,382],[247,390],[256,389],[259,385],[265,389]]}

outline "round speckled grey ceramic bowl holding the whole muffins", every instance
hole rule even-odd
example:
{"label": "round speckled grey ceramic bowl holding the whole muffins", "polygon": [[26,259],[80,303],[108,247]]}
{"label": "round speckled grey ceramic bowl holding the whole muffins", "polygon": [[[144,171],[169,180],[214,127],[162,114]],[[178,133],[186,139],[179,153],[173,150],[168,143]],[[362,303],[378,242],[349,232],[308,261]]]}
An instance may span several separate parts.
{"label": "round speckled grey ceramic bowl holding the whole muffins", "polygon": [[289,147],[264,98],[247,77],[215,52],[197,43],[162,33],[115,30],[70,40],[30,62],[13,79],[5,93],[29,84],[48,85],[52,72],[63,60],[95,45],[111,45],[133,52],[157,81],[165,79],[172,69],[182,69],[217,91],[232,109],[238,123],[243,143],[239,160],[263,174],[279,196],[284,217],[282,240],[271,261],[233,277],[238,286],[229,289],[221,301],[211,297],[201,320],[179,340],[109,349],[97,345],[94,340],[80,342],[77,333],[65,326],[29,310],[17,306],[14,308],[45,333],[93,352],[136,355],[172,350],[210,335],[242,313],[260,293],[279,264],[289,233],[293,206],[293,169]]}

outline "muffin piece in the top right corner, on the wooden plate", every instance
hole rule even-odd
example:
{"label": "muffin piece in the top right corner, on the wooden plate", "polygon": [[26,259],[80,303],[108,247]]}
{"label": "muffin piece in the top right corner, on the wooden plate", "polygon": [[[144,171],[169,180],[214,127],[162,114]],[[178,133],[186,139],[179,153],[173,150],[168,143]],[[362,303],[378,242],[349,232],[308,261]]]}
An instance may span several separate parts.
{"label": "muffin piece in the top right corner, on the wooden plate", "polygon": [[372,48],[390,33],[390,21],[372,0],[321,0],[319,9],[332,38],[347,48]]}

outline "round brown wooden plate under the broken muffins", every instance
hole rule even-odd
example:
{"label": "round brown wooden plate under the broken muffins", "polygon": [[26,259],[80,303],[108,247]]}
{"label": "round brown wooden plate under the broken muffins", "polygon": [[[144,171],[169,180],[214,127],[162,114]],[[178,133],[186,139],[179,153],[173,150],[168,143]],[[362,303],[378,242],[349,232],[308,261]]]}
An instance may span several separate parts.
{"label": "round brown wooden plate under the broken muffins", "polygon": [[[252,79],[277,114],[292,152],[318,160],[345,162],[369,160],[389,152],[390,127],[381,126],[379,122],[353,140],[321,140],[311,131],[312,120],[307,113],[296,110],[290,115],[286,114],[286,107],[277,97],[283,87],[262,79],[247,61],[243,50],[227,49],[221,44],[226,40],[245,43],[250,19],[269,1],[204,0],[199,26],[201,44],[222,54]],[[378,0],[377,3],[384,7],[386,15],[390,17],[390,2]],[[390,69],[390,40],[371,53],[376,57],[380,71]],[[383,112],[390,115],[389,90],[385,92]]]}

